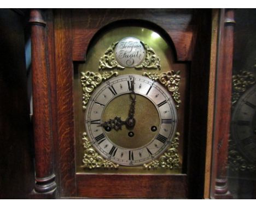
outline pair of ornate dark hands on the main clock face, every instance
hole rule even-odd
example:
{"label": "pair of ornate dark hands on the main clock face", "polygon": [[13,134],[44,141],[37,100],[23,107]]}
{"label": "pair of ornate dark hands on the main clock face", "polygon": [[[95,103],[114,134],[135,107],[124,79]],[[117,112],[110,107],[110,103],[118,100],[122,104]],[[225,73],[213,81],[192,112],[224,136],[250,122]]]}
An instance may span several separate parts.
{"label": "pair of ornate dark hands on the main clock face", "polygon": [[134,92],[134,78],[131,83],[131,105],[129,109],[128,118],[125,121],[122,121],[120,117],[115,117],[114,119],[109,119],[108,121],[105,121],[101,126],[104,128],[110,127],[111,129],[114,129],[116,131],[121,130],[121,127],[123,125],[126,126],[127,129],[132,129],[133,126],[135,126],[135,102],[136,102],[136,94]]}

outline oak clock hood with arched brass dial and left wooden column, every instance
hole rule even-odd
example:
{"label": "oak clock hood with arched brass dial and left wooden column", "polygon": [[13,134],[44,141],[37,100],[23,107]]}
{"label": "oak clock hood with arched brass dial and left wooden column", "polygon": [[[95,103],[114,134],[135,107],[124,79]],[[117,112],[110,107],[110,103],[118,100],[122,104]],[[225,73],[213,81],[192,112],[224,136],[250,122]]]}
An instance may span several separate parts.
{"label": "oak clock hood with arched brass dial and left wooden column", "polygon": [[210,10],[33,9],[30,22],[34,197],[202,198]]}

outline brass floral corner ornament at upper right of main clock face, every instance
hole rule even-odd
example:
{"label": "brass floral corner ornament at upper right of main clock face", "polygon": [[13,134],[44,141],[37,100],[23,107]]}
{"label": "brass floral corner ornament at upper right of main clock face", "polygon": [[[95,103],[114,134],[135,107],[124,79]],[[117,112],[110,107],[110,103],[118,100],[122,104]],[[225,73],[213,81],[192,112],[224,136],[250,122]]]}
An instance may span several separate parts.
{"label": "brass floral corner ornament at upper right of main clock face", "polygon": [[172,92],[172,97],[176,101],[177,105],[176,108],[179,108],[179,103],[181,100],[181,94],[178,92],[179,89],[179,82],[181,81],[181,76],[179,75],[181,71],[174,72],[173,70],[161,73],[158,75],[157,73],[147,73],[143,72],[143,76],[147,76],[154,81],[159,81],[160,83],[164,84],[165,87]]}

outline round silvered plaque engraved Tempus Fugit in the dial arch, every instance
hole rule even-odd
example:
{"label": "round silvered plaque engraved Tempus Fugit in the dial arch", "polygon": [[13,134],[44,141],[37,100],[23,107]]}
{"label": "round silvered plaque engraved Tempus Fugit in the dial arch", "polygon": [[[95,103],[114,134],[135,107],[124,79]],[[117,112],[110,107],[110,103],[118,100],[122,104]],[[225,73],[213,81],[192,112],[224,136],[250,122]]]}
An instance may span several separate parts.
{"label": "round silvered plaque engraved Tempus Fugit in the dial arch", "polygon": [[127,37],[118,42],[115,47],[115,58],[124,67],[132,68],[143,62],[145,50],[137,38]]}

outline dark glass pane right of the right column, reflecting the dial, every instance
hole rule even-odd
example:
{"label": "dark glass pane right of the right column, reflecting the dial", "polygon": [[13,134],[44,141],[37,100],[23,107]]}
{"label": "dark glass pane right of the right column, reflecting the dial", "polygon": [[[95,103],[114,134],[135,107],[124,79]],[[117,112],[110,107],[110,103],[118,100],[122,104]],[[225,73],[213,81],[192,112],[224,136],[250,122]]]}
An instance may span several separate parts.
{"label": "dark glass pane right of the right column, reflecting the dial", "polygon": [[256,9],[235,10],[228,183],[233,198],[256,198]]}

